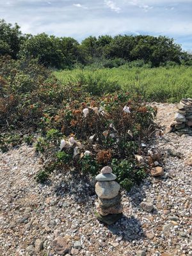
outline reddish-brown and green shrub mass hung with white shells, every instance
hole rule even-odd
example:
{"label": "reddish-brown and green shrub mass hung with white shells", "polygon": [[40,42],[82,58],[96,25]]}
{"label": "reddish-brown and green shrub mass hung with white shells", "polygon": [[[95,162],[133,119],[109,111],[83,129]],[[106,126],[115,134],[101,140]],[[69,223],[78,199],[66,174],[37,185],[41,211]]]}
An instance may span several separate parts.
{"label": "reddish-brown and green shrub mass hung with white shells", "polygon": [[[139,95],[118,90],[115,82],[100,75],[61,84],[34,60],[3,58],[0,67],[1,130],[12,127],[14,143],[31,143],[33,133],[38,133],[35,147],[44,165],[37,181],[45,182],[54,170],[68,168],[96,175],[111,164],[125,189],[141,181],[143,170],[134,163],[134,154],[154,131],[156,109]],[[26,132],[22,139],[17,137],[20,130]],[[60,150],[61,139],[66,147]],[[3,150],[13,144],[6,140]]]}

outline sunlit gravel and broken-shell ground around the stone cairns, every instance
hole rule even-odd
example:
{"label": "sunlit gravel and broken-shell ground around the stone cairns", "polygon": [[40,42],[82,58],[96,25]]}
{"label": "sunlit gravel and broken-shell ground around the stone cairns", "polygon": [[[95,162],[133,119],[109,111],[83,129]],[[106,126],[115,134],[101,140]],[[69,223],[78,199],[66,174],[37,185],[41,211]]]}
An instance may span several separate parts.
{"label": "sunlit gravel and broken-shell ground around the stone cairns", "polygon": [[[156,104],[157,122],[166,129],[174,104]],[[0,153],[0,255],[57,255],[52,241],[60,235],[70,255],[192,255],[191,170],[185,164],[192,137],[165,134],[152,148],[164,152],[165,175],[148,177],[129,193],[122,191],[124,217],[105,226],[95,219],[93,182],[77,173],[52,173],[47,185],[36,183],[40,157],[27,145]],[[166,154],[168,148],[182,157]],[[152,212],[141,209],[151,202]],[[37,245],[37,239],[44,244]],[[35,246],[36,244],[36,246]]]}

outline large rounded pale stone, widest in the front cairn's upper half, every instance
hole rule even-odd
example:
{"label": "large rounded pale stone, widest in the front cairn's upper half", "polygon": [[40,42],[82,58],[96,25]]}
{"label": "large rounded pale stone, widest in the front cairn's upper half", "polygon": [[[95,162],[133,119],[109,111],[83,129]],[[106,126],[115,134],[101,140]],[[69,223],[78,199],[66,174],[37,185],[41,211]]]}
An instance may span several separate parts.
{"label": "large rounded pale stone, widest in the front cairn's upper half", "polygon": [[95,192],[99,198],[113,198],[118,195],[120,184],[115,181],[99,181],[95,185]]}

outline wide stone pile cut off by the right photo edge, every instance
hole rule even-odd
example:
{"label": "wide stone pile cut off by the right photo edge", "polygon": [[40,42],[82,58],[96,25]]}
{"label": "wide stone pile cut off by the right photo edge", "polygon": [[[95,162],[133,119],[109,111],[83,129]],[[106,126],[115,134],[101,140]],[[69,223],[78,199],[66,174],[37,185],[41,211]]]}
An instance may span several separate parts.
{"label": "wide stone pile cut off by the right photo edge", "polygon": [[178,134],[189,134],[192,136],[192,99],[182,99],[177,104],[175,121],[170,125],[170,132]]}

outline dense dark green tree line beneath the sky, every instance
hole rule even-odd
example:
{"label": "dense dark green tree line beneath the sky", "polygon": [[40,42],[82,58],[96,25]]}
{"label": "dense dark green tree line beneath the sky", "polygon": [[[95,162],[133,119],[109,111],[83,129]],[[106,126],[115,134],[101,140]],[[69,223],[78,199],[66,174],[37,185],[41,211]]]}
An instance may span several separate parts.
{"label": "dense dark green tree line beneath the sky", "polygon": [[191,65],[191,54],[182,51],[173,38],[149,35],[88,36],[81,43],[72,37],[40,33],[22,34],[19,25],[0,20],[0,55],[13,59],[35,58],[51,68],[74,68],[93,63],[116,67],[142,60],[150,67],[166,63]]}

